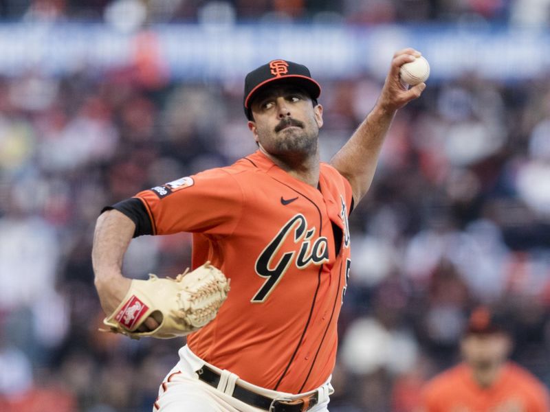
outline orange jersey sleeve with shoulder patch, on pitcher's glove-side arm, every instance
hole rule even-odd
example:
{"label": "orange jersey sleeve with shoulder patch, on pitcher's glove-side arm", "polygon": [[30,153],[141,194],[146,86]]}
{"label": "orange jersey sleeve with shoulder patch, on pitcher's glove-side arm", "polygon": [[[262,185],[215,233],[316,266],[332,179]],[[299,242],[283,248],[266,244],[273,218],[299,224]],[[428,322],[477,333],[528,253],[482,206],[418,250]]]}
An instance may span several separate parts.
{"label": "orange jersey sleeve with shoulder patch, on pitcher's glove-side arm", "polygon": [[243,191],[223,169],[206,170],[138,193],[153,234],[188,231],[230,235],[243,211]]}

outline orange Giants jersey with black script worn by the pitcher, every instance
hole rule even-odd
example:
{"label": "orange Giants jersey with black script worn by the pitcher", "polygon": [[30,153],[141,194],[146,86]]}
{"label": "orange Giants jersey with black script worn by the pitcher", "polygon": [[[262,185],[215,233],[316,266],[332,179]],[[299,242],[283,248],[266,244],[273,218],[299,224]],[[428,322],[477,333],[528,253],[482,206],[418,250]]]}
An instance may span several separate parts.
{"label": "orange Giants jersey with black script worn by the pitcher", "polygon": [[263,153],[140,192],[154,234],[193,232],[193,268],[230,278],[217,317],[187,342],[208,363],[267,389],[329,378],[349,275],[347,179],[326,163],[318,188]]}

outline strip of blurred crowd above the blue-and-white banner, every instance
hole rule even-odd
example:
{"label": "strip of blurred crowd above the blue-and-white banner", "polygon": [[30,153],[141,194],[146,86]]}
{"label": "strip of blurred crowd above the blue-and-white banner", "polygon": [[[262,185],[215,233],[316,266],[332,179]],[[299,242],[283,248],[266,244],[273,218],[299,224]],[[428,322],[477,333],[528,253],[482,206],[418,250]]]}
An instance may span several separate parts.
{"label": "strip of blurred crowd above the blue-and-white banner", "polygon": [[[25,20],[126,20],[143,16],[151,23],[331,21],[403,23],[481,19],[544,26],[548,0],[0,0],[0,16]],[[120,22],[119,22],[120,23]]]}

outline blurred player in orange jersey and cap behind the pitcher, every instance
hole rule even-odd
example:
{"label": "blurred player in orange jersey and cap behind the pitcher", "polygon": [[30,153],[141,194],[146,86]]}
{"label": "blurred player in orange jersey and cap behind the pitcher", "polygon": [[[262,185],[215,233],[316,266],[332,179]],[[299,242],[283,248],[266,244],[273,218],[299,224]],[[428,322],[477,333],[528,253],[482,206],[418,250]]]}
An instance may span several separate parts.
{"label": "blurred player in orange jersey and cap behind the pitcher", "polygon": [[423,412],[548,412],[549,393],[529,371],[508,361],[505,319],[478,307],[461,339],[463,363],[433,378]]}

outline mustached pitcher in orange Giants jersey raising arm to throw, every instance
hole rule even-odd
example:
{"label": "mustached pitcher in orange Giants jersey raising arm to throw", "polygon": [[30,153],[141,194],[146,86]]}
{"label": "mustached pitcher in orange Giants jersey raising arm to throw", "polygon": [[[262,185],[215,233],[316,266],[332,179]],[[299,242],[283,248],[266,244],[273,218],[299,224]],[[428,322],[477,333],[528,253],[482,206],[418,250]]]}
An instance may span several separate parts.
{"label": "mustached pitcher in orange Giants jersey raising arm to throw", "polygon": [[[245,78],[256,152],[104,209],[92,255],[107,328],[187,335],[153,411],[328,411],[351,267],[348,217],[397,109],[426,87],[399,81],[401,65],[418,56],[393,56],[377,104],[331,163],[319,159],[320,85],[307,67],[272,60]],[[122,275],[133,237],[181,231],[193,233],[192,272]]]}

